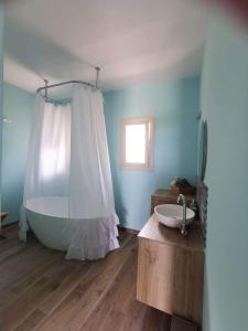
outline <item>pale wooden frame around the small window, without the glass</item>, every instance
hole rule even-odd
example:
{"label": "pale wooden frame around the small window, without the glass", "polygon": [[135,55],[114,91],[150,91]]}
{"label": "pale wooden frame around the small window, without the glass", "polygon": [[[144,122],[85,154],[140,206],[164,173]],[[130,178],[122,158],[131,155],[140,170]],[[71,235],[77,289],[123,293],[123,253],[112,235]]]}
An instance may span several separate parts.
{"label": "pale wooden frame around the small window, without the glass", "polygon": [[[126,127],[129,125],[145,125],[145,163],[126,162]],[[153,169],[154,154],[154,119],[152,117],[126,118],[120,126],[120,168],[121,170],[150,171]]]}

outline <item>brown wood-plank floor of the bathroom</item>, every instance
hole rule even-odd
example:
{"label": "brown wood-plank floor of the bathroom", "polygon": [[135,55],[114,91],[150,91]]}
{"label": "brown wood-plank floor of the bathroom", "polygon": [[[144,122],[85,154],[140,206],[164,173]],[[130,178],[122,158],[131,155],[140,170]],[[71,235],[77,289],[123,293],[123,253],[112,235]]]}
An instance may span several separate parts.
{"label": "brown wood-plank floor of the bathroom", "polygon": [[0,330],[168,331],[170,318],[136,300],[137,238],[98,261],[68,261],[17,226],[0,239]]}

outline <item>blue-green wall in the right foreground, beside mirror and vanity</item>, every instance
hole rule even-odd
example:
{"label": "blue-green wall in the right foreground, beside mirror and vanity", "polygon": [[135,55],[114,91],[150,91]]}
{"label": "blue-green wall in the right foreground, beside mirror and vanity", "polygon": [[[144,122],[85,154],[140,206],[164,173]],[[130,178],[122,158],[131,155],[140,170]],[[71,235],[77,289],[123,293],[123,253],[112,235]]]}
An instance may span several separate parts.
{"label": "blue-green wall in the right foreground, beside mirror and vanity", "polygon": [[205,331],[248,330],[248,34],[213,18],[204,61],[209,188]]}

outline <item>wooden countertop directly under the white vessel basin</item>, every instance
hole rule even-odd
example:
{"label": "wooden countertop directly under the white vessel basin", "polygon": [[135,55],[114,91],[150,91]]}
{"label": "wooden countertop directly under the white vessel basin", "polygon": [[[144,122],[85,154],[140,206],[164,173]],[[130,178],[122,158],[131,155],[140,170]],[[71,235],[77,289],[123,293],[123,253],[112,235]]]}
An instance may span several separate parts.
{"label": "wooden countertop directly under the white vessel basin", "polygon": [[138,237],[191,250],[202,252],[204,249],[201,225],[197,222],[188,225],[187,235],[183,236],[179,228],[170,228],[159,223],[155,214],[149,218]]}

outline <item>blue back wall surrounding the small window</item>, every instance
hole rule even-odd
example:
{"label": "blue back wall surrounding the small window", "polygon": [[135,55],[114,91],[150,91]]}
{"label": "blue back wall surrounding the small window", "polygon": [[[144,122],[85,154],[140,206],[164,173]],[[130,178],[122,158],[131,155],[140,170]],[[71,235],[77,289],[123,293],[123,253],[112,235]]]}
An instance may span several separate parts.
{"label": "blue back wall surrounding the small window", "polygon": [[[168,188],[175,175],[195,182],[200,79],[144,84],[104,97],[116,210],[123,226],[140,229],[157,189]],[[155,120],[154,169],[120,170],[120,121],[143,116]]]}

